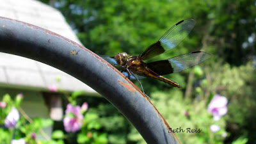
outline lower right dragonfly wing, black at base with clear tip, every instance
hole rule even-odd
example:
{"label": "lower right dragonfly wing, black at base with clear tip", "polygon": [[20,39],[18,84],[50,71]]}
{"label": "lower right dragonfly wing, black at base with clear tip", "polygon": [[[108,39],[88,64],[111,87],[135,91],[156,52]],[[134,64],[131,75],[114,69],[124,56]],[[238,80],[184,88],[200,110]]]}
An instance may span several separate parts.
{"label": "lower right dragonfly wing, black at base with clear tip", "polygon": [[153,70],[160,76],[172,74],[174,72],[181,72],[189,67],[202,63],[211,58],[212,54],[203,51],[189,52],[188,54],[181,54],[168,60],[154,61],[147,63],[147,67]]}

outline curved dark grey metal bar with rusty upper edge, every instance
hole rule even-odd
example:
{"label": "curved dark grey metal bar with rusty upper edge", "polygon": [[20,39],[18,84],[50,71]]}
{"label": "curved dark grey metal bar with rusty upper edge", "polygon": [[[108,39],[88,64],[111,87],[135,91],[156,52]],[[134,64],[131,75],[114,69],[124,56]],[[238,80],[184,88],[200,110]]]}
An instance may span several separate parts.
{"label": "curved dark grey metal bar with rusty upper edge", "polygon": [[[79,51],[70,55],[70,51]],[[0,51],[24,56],[58,68],[113,104],[147,143],[179,143],[147,96],[97,54],[47,29],[0,17]],[[0,61],[1,63],[1,61]]]}

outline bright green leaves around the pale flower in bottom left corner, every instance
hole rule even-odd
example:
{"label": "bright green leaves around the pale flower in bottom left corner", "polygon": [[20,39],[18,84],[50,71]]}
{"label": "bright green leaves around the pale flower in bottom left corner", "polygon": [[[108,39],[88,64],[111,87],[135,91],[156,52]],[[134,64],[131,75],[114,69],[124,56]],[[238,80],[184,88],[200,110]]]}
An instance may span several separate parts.
{"label": "bright green leaves around the pale flower in bottom left corner", "polygon": [[[0,108],[0,143],[11,143],[12,140],[19,140],[20,138],[24,138],[27,143],[35,144],[35,138],[32,138],[31,135],[34,132],[35,134],[39,134],[40,131],[52,125],[51,119],[45,118],[29,118],[24,111],[19,108],[20,103],[22,102],[22,95],[18,95],[15,97],[15,100],[12,100],[10,95],[6,94],[3,96],[2,102],[6,102],[5,108]],[[12,108],[19,109],[20,118],[17,121],[17,124],[14,128],[8,128],[4,126],[4,119],[10,113],[10,109]],[[42,141],[42,143],[58,143],[61,144],[63,141],[54,141],[49,140],[47,142]]]}

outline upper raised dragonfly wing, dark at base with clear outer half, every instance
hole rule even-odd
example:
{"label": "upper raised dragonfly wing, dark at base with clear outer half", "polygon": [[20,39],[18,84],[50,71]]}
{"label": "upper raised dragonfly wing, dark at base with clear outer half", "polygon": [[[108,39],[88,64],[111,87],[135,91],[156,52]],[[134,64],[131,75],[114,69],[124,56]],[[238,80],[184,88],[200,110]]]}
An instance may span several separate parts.
{"label": "upper raised dragonfly wing, dark at base with clear outer half", "polygon": [[148,60],[163,52],[170,51],[180,44],[194,28],[196,22],[193,19],[181,20],[170,28],[164,35],[155,43],[150,45],[145,51],[141,52],[141,60]]}

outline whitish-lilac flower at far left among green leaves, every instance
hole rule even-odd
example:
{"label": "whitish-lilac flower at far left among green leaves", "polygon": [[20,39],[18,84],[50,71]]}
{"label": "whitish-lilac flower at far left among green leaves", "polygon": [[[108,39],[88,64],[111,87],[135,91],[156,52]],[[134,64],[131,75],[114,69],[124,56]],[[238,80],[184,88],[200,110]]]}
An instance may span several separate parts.
{"label": "whitish-lilac flower at far left among green leaves", "polygon": [[20,118],[19,111],[14,107],[4,120],[4,125],[8,128],[14,128]]}

